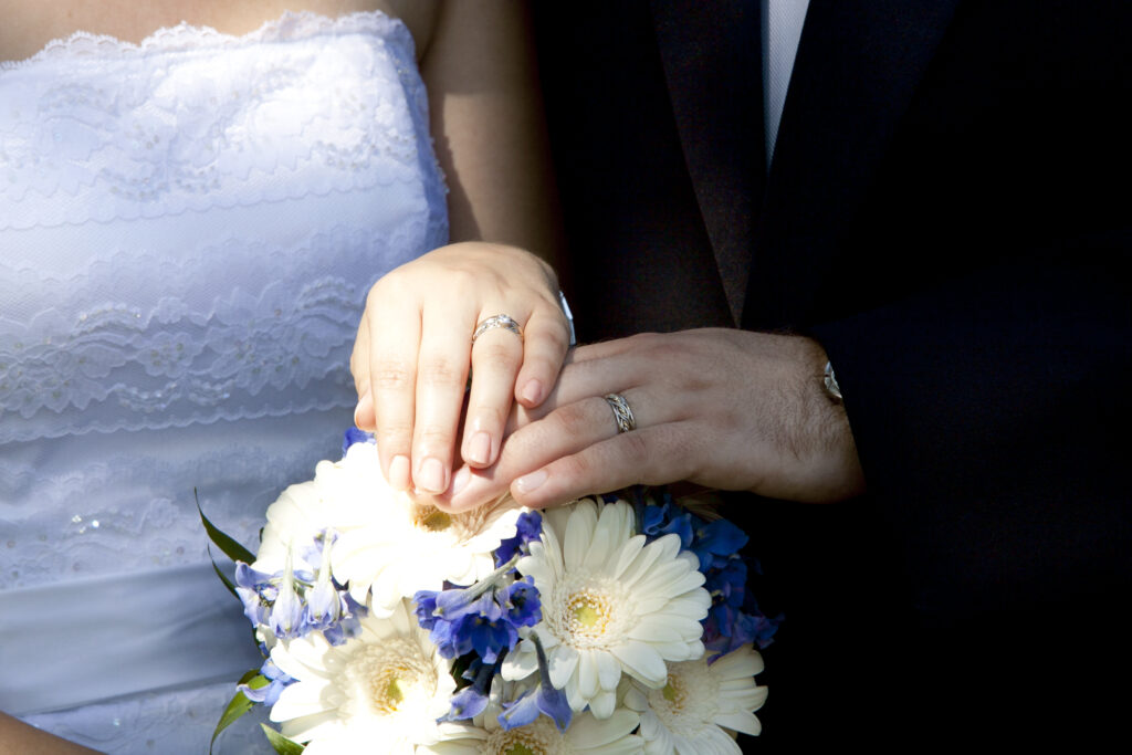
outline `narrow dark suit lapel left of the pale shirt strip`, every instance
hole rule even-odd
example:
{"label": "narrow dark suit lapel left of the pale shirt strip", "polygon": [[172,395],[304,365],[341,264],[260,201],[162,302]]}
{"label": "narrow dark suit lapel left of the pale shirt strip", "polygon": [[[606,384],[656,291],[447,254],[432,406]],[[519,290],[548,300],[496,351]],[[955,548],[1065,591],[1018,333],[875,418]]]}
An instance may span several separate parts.
{"label": "narrow dark suit lapel left of the pale shirt strip", "polygon": [[688,174],[739,323],[765,175],[760,6],[653,0],[652,11]]}

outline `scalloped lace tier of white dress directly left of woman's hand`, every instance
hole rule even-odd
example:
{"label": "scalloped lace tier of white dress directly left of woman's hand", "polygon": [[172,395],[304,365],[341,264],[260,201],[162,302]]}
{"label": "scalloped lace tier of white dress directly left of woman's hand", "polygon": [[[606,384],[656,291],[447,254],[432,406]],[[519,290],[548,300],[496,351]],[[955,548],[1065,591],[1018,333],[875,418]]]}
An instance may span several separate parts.
{"label": "scalloped lace tier of white dress directly left of woman's hand", "polygon": [[29,312],[0,317],[0,444],[349,406],[366,291],[446,231],[426,215],[282,251],[240,239],[181,260],[118,251],[63,281],[0,265],[0,299]]}

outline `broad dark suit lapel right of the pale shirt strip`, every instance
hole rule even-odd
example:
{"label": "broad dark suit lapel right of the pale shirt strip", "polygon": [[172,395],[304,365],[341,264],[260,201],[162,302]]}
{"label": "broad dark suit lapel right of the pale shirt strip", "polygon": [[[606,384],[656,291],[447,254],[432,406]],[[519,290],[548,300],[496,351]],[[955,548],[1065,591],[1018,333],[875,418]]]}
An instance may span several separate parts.
{"label": "broad dark suit lapel right of the pale shirt strip", "polygon": [[[744,325],[800,326],[958,0],[811,0]],[[762,141],[758,141],[762,144]]]}

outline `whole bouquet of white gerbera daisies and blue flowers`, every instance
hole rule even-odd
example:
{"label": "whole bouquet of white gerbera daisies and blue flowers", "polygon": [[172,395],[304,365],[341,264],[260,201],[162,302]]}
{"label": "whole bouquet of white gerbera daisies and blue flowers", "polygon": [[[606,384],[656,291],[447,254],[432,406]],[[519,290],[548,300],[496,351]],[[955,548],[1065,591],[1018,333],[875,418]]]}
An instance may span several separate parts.
{"label": "whole bouquet of white gerbera daisies and blue flowers", "polygon": [[308,755],[739,753],[760,732],[777,621],[734,524],[643,496],[449,514],[346,437],[255,556],[204,520],[264,655],[217,733],[256,704],[277,752]]}

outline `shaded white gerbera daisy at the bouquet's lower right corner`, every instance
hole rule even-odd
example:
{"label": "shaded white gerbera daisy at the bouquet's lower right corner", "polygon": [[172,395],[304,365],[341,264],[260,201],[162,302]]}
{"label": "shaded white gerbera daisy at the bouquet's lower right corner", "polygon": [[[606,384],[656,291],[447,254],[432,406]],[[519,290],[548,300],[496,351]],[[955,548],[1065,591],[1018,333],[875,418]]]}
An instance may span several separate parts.
{"label": "shaded white gerbera daisy at the bouquet's lower right corner", "polygon": [[640,685],[625,704],[641,713],[648,755],[741,755],[732,732],[757,736],[755,711],[766,701],[766,687],[755,684],[762,657],[749,645],[712,664],[704,659],[672,663],[660,689]]}

